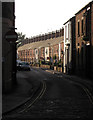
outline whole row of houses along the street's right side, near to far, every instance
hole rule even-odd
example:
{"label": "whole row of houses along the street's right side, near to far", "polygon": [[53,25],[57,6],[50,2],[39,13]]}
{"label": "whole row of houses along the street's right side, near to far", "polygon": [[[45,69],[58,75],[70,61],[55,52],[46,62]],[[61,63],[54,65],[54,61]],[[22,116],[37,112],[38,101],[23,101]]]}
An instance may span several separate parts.
{"label": "whole row of houses along the street's right side, near to far", "polygon": [[62,29],[24,40],[17,52],[23,61],[60,63],[64,73],[92,77],[93,1],[65,22]]}

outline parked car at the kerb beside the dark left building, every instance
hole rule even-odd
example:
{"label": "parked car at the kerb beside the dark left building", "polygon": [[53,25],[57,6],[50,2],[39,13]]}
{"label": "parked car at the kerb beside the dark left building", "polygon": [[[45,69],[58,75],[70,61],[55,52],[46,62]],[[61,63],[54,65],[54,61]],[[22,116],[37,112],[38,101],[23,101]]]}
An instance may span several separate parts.
{"label": "parked car at the kerb beside the dark left building", "polygon": [[30,71],[30,65],[28,62],[17,62],[17,70],[29,70]]}

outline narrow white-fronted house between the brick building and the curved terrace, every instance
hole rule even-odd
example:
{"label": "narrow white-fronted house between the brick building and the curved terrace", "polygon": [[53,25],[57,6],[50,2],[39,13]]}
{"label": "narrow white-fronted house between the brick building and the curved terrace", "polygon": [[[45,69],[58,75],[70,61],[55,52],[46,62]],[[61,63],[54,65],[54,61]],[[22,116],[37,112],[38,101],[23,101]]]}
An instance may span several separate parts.
{"label": "narrow white-fronted house between the brick building and the curved terrace", "polygon": [[75,16],[64,23],[64,73],[75,70]]}

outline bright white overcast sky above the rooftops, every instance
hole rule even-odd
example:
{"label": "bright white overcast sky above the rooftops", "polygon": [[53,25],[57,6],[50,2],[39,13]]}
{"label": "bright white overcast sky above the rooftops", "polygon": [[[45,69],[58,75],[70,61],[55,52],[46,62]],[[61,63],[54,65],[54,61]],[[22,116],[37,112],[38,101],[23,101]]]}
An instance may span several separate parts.
{"label": "bright white overcast sky above the rooftops", "polygon": [[15,0],[16,32],[30,38],[60,30],[92,0]]}

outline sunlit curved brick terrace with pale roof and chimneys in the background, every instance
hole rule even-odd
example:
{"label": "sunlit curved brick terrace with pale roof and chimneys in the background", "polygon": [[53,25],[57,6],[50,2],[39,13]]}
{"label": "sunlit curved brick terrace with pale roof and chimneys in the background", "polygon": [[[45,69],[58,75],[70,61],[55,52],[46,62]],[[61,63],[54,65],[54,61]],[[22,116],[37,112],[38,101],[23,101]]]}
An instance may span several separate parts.
{"label": "sunlit curved brick terrace with pale roof and chimneys in the background", "polygon": [[63,41],[64,29],[60,29],[48,34],[33,37],[23,41],[18,48],[18,56],[22,61],[32,64],[63,63]]}

